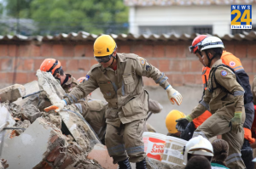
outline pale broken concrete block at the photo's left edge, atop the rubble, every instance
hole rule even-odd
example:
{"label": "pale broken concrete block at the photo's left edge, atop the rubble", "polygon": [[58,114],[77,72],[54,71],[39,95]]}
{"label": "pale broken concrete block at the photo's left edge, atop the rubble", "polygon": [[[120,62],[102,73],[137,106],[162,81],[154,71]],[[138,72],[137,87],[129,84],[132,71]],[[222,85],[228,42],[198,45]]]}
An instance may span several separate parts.
{"label": "pale broken concrete block at the photo's left edge, atop the rubble", "polygon": [[0,89],[1,102],[14,102],[22,96],[25,96],[26,88],[23,85],[15,84],[9,87]]}

